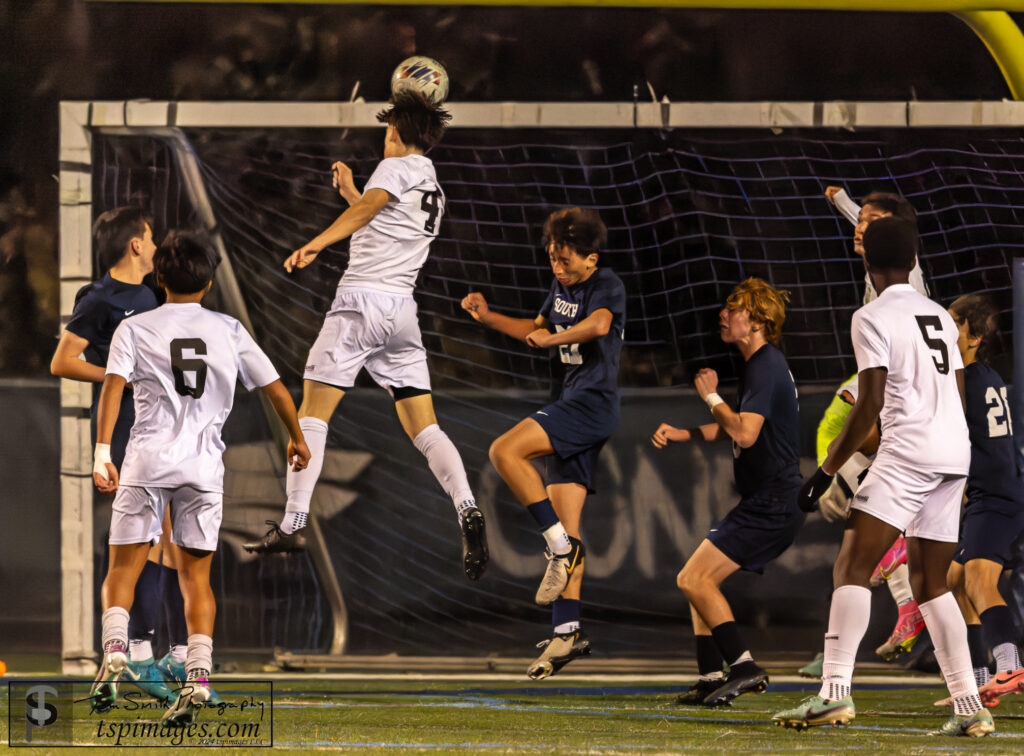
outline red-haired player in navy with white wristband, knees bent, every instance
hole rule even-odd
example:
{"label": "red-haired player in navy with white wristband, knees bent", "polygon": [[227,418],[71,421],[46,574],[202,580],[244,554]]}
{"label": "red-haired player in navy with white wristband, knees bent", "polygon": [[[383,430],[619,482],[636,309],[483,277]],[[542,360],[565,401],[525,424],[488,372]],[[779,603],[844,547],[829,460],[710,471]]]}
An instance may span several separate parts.
{"label": "red-haired player in navy with white wristband, knees bent", "polygon": [[[719,586],[738,570],[760,573],[785,551],[804,523],[800,491],[800,418],[797,387],[777,344],[788,293],[760,279],[732,291],[720,314],[722,341],[735,344],[745,369],[739,406],[719,396],[718,375],[703,368],[694,379],[715,422],[681,429],[663,423],[651,436],[658,449],[670,442],[732,443],[739,503],[711,529],[676,579],[690,602],[697,646],[697,682],[677,703],[721,706],[768,687],[768,675],[740,638],[732,610]],[[722,677],[722,662],[729,665]]]}

